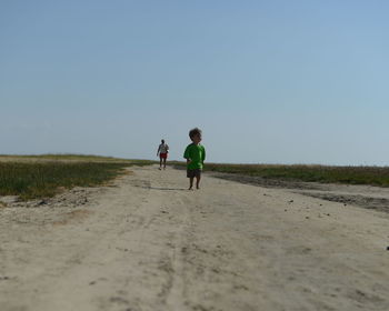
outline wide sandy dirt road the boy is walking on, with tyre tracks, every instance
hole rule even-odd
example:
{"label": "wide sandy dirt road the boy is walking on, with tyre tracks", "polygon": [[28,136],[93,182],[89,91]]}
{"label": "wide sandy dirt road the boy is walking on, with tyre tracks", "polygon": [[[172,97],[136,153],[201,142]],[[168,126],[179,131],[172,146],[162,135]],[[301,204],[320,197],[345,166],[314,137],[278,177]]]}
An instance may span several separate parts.
{"label": "wide sandy dirt road the boy is walking on, with tyre tracks", "polygon": [[0,208],[1,311],[389,310],[387,213],[131,170],[72,204]]}

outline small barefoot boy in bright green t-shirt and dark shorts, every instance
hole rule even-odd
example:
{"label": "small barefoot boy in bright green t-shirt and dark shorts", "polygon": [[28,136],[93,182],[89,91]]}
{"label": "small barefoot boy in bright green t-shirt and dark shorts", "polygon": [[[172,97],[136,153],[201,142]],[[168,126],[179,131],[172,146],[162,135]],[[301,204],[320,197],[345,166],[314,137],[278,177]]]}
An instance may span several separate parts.
{"label": "small barefoot boy in bright green t-shirt and dark shorts", "polygon": [[189,190],[192,190],[193,179],[196,177],[196,188],[200,189],[200,179],[203,161],[206,160],[206,149],[201,141],[201,130],[194,128],[189,131],[189,137],[192,141],[183,152],[183,158],[187,159],[187,177],[189,178]]}

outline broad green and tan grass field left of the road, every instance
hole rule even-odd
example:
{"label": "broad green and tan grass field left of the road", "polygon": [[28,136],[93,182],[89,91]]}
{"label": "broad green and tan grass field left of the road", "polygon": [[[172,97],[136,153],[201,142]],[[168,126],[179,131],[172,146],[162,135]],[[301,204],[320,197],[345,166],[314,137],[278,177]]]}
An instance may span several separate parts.
{"label": "broad green and tan grass field left of the road", "polygon": [[22,200],[52,197],[61,188],[103,184],[127,167],[152,163],[78,154],[0,156],[0,195]]}

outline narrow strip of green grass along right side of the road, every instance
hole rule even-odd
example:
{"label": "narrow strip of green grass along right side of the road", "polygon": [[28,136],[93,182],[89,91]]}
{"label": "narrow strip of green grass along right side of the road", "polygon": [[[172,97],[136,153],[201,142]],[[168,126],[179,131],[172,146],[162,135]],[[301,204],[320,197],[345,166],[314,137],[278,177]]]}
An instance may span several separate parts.
{"label": "narrow strip of green grass along right side of the road", "polygon": [[[183,167],[183,162],[174,163]],[[206,163],[205,171],[322,183],[389,187],[389,167],[328,167]]]}

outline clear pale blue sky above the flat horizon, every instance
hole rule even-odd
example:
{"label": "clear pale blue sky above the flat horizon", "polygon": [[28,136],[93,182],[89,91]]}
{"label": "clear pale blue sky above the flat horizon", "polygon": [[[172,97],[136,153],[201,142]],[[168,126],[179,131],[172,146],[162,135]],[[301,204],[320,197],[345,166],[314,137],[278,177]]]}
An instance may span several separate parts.
{"label": "clear pale blue sky above the flat horizon", "polygon": [[0,153],[389,165],[386,0],[0,1]]}

